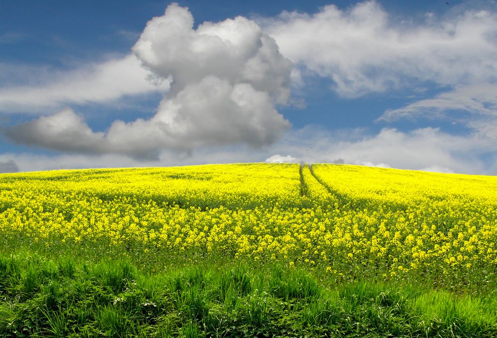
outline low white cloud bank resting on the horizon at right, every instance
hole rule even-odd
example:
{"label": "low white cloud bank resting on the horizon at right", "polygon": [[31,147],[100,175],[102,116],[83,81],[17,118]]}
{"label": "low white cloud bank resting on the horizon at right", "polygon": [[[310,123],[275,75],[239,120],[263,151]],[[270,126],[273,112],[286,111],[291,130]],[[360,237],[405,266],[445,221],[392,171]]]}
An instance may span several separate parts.
{"label": "low white cloud bank resting on the horizon at right", "polygon": [[[378,134],[365,130],[323,130],[308,126],[286,135],[274,153],[291,154],[296,162],[346,163],[399,169],[458,172],[466,174],[497,173],[497,142],[482,135],[451,135],[438,128],[420,128],[402,132],[383,128]],[[266,153],[267,154],[267,153]],[[275,155],[267,158],[280,159]]]}

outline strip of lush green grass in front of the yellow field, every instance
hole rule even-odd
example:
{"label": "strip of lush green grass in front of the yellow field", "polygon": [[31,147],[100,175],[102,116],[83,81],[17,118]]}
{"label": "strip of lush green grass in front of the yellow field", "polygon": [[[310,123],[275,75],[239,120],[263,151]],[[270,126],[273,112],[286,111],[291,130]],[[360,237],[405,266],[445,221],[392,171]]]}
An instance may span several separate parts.
{"label": "strip of lush green grass in front of the yellow field", "polygon": [[[333,285],[333,286],[330,286]],[[496,337],[497,295],[242,263],[80,262],[0,255],[1,337]]]}

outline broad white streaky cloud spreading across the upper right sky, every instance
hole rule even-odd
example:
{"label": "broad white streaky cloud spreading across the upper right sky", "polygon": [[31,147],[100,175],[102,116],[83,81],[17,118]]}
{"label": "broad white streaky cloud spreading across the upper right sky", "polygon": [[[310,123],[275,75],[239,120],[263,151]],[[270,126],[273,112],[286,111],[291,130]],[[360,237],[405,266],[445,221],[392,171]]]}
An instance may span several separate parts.
{"label": "broad white streaky cloud spreading across the upper right sky", "polygon": [[424,81],[454,86],[497,80],[497,13],[427,13],[397,22],[377,2],[347,10],[334,5],[309,15],[283,12],[262,21],[283,55],[333,82],[343,97],[358,97]]}

